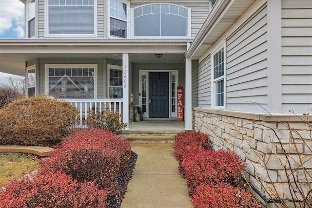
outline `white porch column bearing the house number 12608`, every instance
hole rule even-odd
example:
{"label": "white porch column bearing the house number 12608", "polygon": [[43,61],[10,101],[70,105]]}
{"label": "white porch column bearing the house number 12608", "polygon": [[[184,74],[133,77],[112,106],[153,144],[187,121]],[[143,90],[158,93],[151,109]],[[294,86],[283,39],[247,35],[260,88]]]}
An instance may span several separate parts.
{"label": "white porch column bearing the house number 12608", "polygon": [[129,54],[122,54],[122,122],[129,129]]}

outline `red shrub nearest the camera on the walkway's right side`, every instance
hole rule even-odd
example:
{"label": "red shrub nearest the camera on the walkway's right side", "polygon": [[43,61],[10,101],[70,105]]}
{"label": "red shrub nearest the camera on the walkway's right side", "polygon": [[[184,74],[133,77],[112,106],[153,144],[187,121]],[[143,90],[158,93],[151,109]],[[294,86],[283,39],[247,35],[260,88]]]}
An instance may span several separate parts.
{"label": "red shrub nearest the camera on the walkway's right side", "polygon": [[227,183],[199,185],[191,199],[194,208],[257,208],[250,191]]}

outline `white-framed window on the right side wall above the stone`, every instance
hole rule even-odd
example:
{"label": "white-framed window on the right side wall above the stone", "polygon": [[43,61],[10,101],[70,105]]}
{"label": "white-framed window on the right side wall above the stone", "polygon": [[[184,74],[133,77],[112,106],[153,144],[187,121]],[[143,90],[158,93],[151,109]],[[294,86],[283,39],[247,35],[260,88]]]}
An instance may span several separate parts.
{"label": "white-framed window on the right side wall above the stone", "polygon": [[212,57],[213,79],[212,79],[212,106],[215,108],[225,107],[225,53],[224,48],[218,50]]}

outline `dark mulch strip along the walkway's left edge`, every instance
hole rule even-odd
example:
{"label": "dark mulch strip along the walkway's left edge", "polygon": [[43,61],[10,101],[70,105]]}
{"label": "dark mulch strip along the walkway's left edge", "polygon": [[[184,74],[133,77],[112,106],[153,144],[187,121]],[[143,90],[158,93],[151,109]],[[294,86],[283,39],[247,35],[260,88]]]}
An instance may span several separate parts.
{"label": "dark mulch strip along the walkway's left edge", "polygon": [[122,199],[127,191],[128,183],[132,177],[132,172],[137,162],[137,153],[131,151],[131,157],[128,160],[126,171],[118,176],[118,185],[116,195],[109,196],[106,200],[107,208],[120,208]]}

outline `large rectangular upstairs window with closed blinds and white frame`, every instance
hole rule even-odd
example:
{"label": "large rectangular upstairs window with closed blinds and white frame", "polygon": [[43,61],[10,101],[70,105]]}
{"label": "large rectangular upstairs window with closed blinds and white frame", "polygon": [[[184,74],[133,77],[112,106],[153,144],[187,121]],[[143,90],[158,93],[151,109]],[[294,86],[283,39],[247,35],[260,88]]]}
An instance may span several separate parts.
{"label": "large rectangular upstairs window with closed blinds and white frame", "polygon": [[97,0],[48,0],[47,36],[95,36]]}

